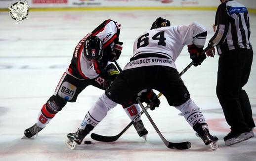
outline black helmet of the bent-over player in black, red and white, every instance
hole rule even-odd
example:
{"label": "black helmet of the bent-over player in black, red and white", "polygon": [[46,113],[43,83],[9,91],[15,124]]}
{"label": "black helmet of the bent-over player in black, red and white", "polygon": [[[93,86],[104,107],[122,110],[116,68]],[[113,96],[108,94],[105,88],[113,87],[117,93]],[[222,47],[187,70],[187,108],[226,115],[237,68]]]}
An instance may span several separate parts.
{"label": "black helmet of the bent-over player in black, red and white", "polygon": [[90,36],[84,43],[84,54],[87,60],[100,60],[103,56],[103,43],[95,36]]}

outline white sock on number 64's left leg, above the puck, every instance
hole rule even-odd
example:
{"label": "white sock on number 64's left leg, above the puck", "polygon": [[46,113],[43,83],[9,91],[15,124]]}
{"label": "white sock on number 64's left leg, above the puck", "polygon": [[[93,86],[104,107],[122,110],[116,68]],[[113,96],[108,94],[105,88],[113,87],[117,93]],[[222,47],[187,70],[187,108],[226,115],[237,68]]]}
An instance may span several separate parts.
{"label": "white sock on number 64's left leg, above the puck", "polygon": [[102,121],[110,109],[117,105],[114,101],[110,100],[105,93],[95,102],[94,105],[86,113],[84,120],[81,122],[79,129],[85,129],[86,124],[96,126]]}

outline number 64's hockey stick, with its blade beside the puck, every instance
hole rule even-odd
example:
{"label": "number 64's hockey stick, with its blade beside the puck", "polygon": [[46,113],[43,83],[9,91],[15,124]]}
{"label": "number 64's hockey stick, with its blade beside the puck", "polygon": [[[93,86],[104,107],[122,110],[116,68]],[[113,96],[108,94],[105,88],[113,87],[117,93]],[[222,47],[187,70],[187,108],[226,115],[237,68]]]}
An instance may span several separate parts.
{"label": "number 64's hockey stick, with its blade beside the puck", "polygon": [[[213,46],[213,43],[209,44],[204,50],[202,53],[205,53],[209,48],[211,48]],[[121,67],[119,66],[119,64],[117,63],[117,61],[115,60],[114,61],[117,68],[119,69],[120,72],[122,72],[122,69]],[[181,77],[191,66],[193,65],[193,62],[189,63],[180,73],[179,73],[179,76]],[[158,98],[162,96],[162,93],[159,93],[158,94]],[[146,107],[147,109],[148,107]],[[142,115],[144,113],[144,111],[141,111],[139,115]],[[134,123],[134,121],[137,119],[134,118],[119,134],[115,135],[115,136],[103,136],[103,135],[99,135],[99,134],[95,134],[95,133],[91,133],[91,138],[93,140],[96,140],[96,141],[101,141],[101,142],[114,142],[116,141],[117,139],[120,138],[120,136],[122,136],[127,130],[128,128]]]}

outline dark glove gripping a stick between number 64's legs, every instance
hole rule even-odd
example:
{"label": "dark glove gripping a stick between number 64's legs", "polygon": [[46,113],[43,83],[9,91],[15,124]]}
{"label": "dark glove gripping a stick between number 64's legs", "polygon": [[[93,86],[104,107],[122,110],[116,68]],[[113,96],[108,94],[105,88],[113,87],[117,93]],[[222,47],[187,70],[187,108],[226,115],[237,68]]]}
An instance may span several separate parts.
{"label": "dark glove gripping a stick between number 64's legs", "polygon": [[141,102],[146,102],[149,106],[150,110],[155,110],[156,107],[159,107],[160,100],[158,99],[156,93],[153,90],[147,90],[146,92],[142,92],[139,96]]}

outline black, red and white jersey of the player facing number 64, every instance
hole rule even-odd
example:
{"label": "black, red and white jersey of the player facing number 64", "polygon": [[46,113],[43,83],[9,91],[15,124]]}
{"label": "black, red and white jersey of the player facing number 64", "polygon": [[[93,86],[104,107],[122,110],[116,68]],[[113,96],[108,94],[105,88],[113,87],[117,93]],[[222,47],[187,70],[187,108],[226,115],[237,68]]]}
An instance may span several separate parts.
{"label": "black, red and white jersey of the player facing number 64", "polygon": [[[105,20],[91,33],[87,34],[76,46],[67,72],[78,79],[95,79],[109,61],[115,42],[119,41],[121,25],[113,20]],[[103,57],[99,62],[91,63],[84,56],[84,42],[89,36],[97,36],[103,42]]]}

